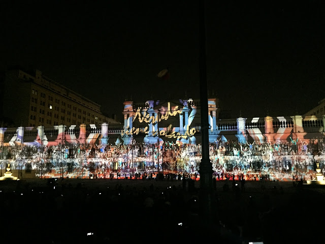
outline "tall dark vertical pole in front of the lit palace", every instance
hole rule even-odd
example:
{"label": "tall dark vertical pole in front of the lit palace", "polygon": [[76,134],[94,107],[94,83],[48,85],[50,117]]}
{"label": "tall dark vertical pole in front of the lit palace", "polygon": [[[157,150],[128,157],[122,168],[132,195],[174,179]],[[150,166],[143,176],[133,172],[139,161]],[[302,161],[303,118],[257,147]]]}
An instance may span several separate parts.
{"label": "tall dark vertical pole in front of the lit palace", "polygon": [[[208,89],[206,71],[206,33],[205,33],[205,1],[199,1],[200,28],[200,101],[201,101],[201,133],[202,160],[200,163],[200,218],[203,237],[207,237],[213,228],[215,219],[215,196],[213,189],[212,164],[209,158],[209,120],[208,120]],[[214,232],[216,230],[214,229]],[[205,232],[205,233],[204,233]]]}

